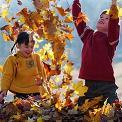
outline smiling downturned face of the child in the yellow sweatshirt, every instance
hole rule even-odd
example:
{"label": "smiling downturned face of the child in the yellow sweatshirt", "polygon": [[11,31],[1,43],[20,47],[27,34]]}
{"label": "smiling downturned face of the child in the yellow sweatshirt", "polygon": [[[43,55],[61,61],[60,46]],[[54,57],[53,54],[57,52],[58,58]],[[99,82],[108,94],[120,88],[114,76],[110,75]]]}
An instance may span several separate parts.
{"label": "smiling downturned face of the child in the yellow sweatshirt", "polygon": [[31,54],[33,52],[34,43],[29,42],[28,45],[25,45],[25,43],[22,43],[22,44],[18,45],[18,49],[25,58],[28,58],[31,56]]}

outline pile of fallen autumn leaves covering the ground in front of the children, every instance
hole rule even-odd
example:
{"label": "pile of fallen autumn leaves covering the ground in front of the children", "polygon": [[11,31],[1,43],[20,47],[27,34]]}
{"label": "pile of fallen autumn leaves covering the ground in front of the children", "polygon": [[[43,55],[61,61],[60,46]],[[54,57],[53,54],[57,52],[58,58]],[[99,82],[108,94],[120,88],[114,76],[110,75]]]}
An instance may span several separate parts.
{"label": "pile of fallen autumn leaves covering the ground in front of the children", "polygon": [[59,110],[54,98],[51,100],[40,99],[39,96],[27,99],[16,98],[0,106],[0,122],[119,122],[122,120],[122,104],[116,104],[115,107],[104,103],[100,108],[99,100],[100,97],[92,101],[86,100],[80,107],[72,103]]}

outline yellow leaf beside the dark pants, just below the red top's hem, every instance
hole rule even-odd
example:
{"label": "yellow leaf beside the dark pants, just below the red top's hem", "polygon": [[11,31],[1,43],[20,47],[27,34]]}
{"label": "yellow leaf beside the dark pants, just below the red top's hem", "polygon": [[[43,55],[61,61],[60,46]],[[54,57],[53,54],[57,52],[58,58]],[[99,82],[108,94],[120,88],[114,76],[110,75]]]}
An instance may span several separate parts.
{"label": "yellow leaf beside the dark pants, just below the red top's hem", "polygon": [[75,90],[75,93],[79,96],[84,96],[84,93],[87,92],[88,87],[83,85],[83,81],[79,81],[78,83],[73,83],[73,88]]}

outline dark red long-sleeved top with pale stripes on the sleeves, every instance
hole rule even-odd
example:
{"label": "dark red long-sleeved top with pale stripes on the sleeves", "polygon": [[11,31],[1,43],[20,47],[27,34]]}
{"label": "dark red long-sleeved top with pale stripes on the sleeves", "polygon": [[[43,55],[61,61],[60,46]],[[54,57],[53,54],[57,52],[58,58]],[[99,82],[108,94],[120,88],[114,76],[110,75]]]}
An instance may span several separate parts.
{"label": "dark red long-sleeved top with pale stripes on the sleeves", "polygon": [[[74,0],[72,14],[76,22],[81,5]],[[82,63],[79,78],[87,80],[115,81],[112,59],[119,39],[119,19],[110,18],[108,36],[94,31],[86,26],[85,21],[76,25],[78,34],[83,42]]]}

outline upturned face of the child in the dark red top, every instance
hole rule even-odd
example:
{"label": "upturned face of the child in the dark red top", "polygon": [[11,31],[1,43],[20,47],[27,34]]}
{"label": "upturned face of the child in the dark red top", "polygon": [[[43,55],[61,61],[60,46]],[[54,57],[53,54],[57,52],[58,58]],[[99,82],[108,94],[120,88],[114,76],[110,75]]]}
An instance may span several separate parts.
{"label": "upturned face of the child in the dark red top", "polygon": [[110,19],[110,16],[108,14],[100,15],[100,18],[97,22],[97,30],[103,33],[107,33],[109,19]]}

